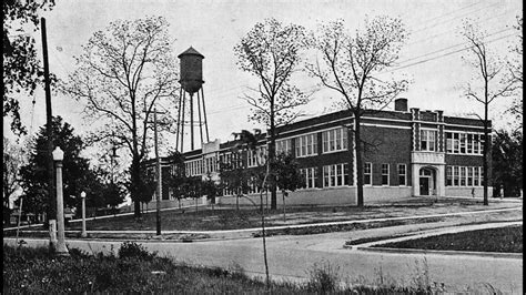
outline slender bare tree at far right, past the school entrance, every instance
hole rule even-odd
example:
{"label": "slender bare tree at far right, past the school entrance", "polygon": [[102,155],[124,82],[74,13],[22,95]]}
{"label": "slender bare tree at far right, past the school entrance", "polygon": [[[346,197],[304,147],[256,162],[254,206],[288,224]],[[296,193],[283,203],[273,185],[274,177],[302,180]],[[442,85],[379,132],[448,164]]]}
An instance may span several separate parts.
{"label": "slender bare tree at far right, past the school entrance", "polygon": [[462,58],[467,65],[474,69],[472,80],[466,83],[464,95],[484,105],[484,118],[478,115],[478,119],[484,124],[484,205],[488,205],[489,104],[497,98],[512,95],[516,89],[516,83],[504,79],[505,71],[503,70],[505,70],[506,63],[500,61],[487,47],[489,43],[487,32],[481,30],[473,21],[465,20],[461,34],[469,47],[467,53]]}

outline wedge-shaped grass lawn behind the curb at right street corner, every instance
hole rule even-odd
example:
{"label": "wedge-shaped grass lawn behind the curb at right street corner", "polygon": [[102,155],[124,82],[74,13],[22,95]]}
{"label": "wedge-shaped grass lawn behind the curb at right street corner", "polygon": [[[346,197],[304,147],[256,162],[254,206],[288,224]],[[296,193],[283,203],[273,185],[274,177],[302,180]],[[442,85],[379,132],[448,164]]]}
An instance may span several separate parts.
{"label": "wedge-shaped grass lawn behind the curb at right street corner", "polygon": [[376,245],[377,247],[523,253],[523,226],[477,230]]}

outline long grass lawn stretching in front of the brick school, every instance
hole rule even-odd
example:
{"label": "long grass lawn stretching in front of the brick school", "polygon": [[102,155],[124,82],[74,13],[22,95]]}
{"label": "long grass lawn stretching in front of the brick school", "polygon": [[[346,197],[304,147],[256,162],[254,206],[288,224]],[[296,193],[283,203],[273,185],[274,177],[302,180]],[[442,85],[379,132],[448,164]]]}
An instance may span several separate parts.
{"label": "long grass lawn stretching in front of the brick school", "polygon": [[[509,207],[509,204],[492,204],[492,208]],[[293,225],[334,221],[351,221],[378,217],[414,216],[438,213],[454,213],[465,211],[487,210],[482,205],[482,201],[414,197],[404,202],[384,203],[368,205],[365,207],[355,206],[295,206],[286,208],[286,222],[283,221],[283,210],[266,211],[266,225]],[[251,228],[261,226],[261,215],[259,210],[243,207],[236,211],[233,207],[218,207],[212,211],[210,207],[186,208],[184,213],[179,210],[162,211],[161,221],[163,231],[216,231]],[[67,230],[80,231],[80,222],[71,223]],[[155,231],[155,212],[142,214],[141,221],[135,221],[132,215],[117,216],[88,221],[90,231]]]}

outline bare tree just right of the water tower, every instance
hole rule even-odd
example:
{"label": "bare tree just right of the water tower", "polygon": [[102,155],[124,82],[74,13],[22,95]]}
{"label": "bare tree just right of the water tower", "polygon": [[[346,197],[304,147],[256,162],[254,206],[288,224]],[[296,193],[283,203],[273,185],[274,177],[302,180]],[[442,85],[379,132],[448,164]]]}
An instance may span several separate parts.
{"label": "bare tree just right of the water tower", "polygon": [[[269,161],[271,170],[275,159],[276,128],[294,121],[301,113],[294,111],[308,102],[308,95],[291,83],[292,74],[300,69],[300,52],[307,48],[305,29],[296,24],[284,26],[275,19],[256,23],[235,45],[237,65],[259,79],[256,94],[245,95],[252,105],[250,120],[269,128]],[[276,208],[276,185],[270,175],[271,208]]]}

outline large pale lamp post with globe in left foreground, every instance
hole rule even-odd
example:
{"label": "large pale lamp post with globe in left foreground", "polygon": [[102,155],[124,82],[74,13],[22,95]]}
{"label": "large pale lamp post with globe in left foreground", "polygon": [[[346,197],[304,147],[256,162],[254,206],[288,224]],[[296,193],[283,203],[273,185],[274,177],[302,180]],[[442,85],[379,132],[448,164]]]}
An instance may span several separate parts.
{"label": "large pale lamp post with globe in left foreground", "polygon": [[64,160],[64,152],[57,146],[53,151],[53,161],[57,171],[57,254],[69,255],[65,246],[64,236],[64,200],[62,195],[62,160]]}

